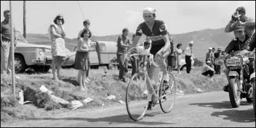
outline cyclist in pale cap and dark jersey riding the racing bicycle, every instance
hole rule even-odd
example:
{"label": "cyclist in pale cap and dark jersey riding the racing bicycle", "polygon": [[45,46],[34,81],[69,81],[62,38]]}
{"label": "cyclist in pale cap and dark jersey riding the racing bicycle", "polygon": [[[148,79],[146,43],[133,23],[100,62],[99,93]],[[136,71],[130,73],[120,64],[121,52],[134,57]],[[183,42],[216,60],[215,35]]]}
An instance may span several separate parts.
{"label": "cyclist in pale cap and dark jersey riding the racing bicycle", "polygon": [[[136,36],[134,37],[134,41],[132,42],[132,45],[130,45],[129,49],[136,47],[142,34],[147,36],[147,40],[152,40],[150,53],[154,55],[154,61],[158,63],[159,68],[163,71],[164,83],[167,83],[169,78],[163,56],[163,54],[170,49],[167,26],[162,20],[156,20],[156,10],[153,8],[148,7],[143,9],[143,19],[145,22],[142,22],[136,29]],[[173,47],[171,52],[173,52]],[[148,75],[154,84],[159,81],[159,68],[151,65],[148,69]],[[150,92],[150,94],[152,95],[152,92]],[[151,108],[152,101],[148,103],[148,109]]]}

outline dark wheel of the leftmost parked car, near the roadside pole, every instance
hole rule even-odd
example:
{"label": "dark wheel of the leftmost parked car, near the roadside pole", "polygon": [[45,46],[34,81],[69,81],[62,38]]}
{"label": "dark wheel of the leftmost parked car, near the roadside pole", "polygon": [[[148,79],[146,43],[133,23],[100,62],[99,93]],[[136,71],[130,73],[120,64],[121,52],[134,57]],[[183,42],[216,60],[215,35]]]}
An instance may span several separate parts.
{"label": "dark wheel of the leftmost parked car, near the roadside pole", "polygon": [[19,54],[14,55],[14,67],[15,67],[15,73],[22,73],[26,70],[26,63],[24,61],[23,56]]}

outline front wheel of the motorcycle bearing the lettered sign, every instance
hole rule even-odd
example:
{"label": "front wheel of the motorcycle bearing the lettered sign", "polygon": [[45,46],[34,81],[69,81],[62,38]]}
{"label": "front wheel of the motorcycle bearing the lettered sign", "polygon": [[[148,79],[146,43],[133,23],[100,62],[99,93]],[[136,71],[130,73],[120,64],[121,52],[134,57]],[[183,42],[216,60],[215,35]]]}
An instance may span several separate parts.
{"label": "front wheel of the motorcycle bearing the lettered sign", "polygon": [[229,80],[229,99],[233,108],[238,108],[241,103],[239,81],[237,77],[232,77]]}

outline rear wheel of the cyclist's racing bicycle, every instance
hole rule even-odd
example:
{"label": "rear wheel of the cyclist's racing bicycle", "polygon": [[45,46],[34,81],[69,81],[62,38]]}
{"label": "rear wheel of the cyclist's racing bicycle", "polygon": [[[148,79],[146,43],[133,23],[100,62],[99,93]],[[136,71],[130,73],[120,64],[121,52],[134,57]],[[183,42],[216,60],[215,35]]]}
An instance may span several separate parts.
{"label": "rear wheel of the cyclist's racing bicycle", "polygon": [[169,113],[173,108],[176,98],[176,83],[173,74],[168,74],[168,84],[164,84],[161,80],[161,86],[159,89],[159,103],[164,113]]}

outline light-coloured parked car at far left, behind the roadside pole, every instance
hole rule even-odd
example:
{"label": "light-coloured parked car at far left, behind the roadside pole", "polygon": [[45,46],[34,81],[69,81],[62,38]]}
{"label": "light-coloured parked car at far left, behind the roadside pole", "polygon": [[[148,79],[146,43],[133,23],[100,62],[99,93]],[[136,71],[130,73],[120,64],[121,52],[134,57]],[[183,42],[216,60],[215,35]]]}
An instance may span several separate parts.
{"label": "light-coloured parked car at far left, behind the roadside pole", "polygon": [[52,62],[51,46],[30,44],[19,31],[16,31],[15,35],[17,36],[14,51],[15,73],[25,72],[29,67],[47,72]]}

